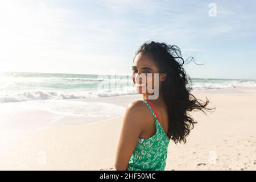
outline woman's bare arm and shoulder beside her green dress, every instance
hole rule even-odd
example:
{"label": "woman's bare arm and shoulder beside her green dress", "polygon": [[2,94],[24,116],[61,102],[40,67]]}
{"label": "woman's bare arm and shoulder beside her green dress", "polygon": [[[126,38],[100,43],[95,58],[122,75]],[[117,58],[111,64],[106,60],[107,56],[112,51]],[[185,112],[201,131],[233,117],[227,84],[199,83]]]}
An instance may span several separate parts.
{"label": "woman's bare arm and shoulder beside her green dress", "polygon": [[129,159],[143,130],[143,106],[142,101],[134,101],[127,106],[115,156],[117,171],[125,171],[128,168]]}

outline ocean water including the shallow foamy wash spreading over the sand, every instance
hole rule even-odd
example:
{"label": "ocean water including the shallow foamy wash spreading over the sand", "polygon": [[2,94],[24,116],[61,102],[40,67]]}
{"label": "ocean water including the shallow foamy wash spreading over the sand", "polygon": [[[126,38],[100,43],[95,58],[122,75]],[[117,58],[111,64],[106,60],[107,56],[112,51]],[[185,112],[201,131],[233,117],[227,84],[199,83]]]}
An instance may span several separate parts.
{"label": "ocean water including the shallow foamy wash spreading over the sand", "polygon": [[[0,85],[0,130],[76,125],[120,117],[126,110],[123,106],[69,99],[137,94],[129,75],[5,72],[0,73]],[[256,86],[256,81],[192,78],[193,90],[237,86]],[[44,114],[37,116],[38,112]]]}

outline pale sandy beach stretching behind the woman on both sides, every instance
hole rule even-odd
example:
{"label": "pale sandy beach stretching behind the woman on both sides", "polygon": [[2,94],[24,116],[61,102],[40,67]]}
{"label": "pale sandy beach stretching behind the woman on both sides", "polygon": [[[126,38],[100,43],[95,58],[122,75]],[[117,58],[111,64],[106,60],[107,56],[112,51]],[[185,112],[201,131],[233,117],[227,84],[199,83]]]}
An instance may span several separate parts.
{"label": "pale sandy beach stretching behind the woman on both sides", "polygon": [[[256,88],[192,93],[204,101],[208,97],[209,106],[216,107],[216,111],[207,115],[200,111],[191,113],[198,123],[187,143],[170,142],[165,170],[256,170]],[[79,101],[126,107],[141,99],[142,96],[135,95]],[[47,111],[31,109],[5,119],[40,123],[52,117]],[[74,118],[61,119],[59,122]],[[1,130],[0,169],[114,170],[121,125],[122,116],[76,125]]]}

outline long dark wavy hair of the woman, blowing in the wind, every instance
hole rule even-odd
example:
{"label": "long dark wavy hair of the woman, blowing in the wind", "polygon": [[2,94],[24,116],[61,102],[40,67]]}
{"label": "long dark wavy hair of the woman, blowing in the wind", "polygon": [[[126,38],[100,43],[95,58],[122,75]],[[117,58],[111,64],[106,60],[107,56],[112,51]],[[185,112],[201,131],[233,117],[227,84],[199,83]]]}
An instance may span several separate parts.
{"label": "long dark wavy hair of the woman, blowing in the wind", "polygon": [[[138,53],[150,56],[154,60],[156,67],[158,67],[159,73],[167,74],[166,79],[162,82],[162,93],[168,108],[169,118],[167,137],[174,140],[175,143],[181,141],[185,143],[185,137],[193,129],[194,124],[197,123],[188,114],[188,111],[201,110],[205,113],[204,110],[212,110],[214,108],[206,107],[209,104],[208,98],[206,102],[203,102],[202,100],[197,100],[190,93],[192,81],[183,68],[185,61],[181,57],[179,47],[170,46],[166,43],[146,42],[139,47],[135,56]],[[191,83],[190,87],[188,86],[188,81]]]}

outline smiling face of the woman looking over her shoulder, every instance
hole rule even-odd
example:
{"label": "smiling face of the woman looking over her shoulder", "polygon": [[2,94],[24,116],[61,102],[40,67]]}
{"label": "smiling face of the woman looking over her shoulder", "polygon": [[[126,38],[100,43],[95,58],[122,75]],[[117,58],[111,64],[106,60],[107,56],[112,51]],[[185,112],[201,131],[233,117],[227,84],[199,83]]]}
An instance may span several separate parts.
{"label": "smiling face of the woman looking over her shoulder", "polygon": [[[151,57],[143,53],[138,53],[133,61],[131,79],[139,94],[152,94],[152,92],[148,92],[148,88],[155,89],[155,86],[157,86],[154,82],[155,73],[159,73],[159,69]],[[157,83],[159,84],[159,81]]]}

